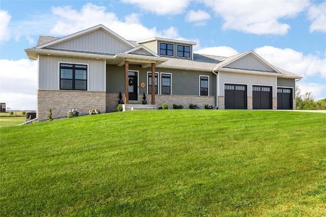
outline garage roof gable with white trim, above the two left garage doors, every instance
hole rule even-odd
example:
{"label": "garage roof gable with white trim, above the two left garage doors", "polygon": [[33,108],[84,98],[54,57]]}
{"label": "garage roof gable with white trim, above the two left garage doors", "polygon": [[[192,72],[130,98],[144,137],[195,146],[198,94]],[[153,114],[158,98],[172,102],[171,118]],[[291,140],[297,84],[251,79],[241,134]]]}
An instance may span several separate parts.
{"label": "garage roof gable with white trim, above the two left garage doors", "polygon": [[254,51],[247,51],[227,58],[217,68],[231,68],[249,71],[262,71],[280,73],[274,66],[267,63],[266,60],[261,58]]}

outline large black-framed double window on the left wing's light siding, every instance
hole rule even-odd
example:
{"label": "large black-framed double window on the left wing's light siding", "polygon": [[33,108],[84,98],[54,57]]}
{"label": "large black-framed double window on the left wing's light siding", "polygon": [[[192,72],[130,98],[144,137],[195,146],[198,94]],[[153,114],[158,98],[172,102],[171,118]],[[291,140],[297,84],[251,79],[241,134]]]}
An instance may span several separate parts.
{"label": "large black-framed double window on the left wing's light siding", "polygon": [[87,66],[60,64],[60,89],[87,90]]}

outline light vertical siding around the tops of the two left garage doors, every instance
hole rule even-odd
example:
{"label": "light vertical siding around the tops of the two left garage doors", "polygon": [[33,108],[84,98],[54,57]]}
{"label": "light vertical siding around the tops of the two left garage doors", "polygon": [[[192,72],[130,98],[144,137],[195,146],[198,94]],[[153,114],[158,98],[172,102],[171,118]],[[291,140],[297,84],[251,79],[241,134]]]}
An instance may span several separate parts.
{"label": "light vertical siding around the tops of the two left garage doors", "polygon": [[219,72],[220,74],[220,85],[219,91],[220,96],[224,96],[224,84],[244,84],[247,85],[248,97],[252,97],[252,86],[253,85],[265,85],[273,87],[273,97],[277,96],[277,77],[266,76],[266,75],[247,75],[240,73],[225,73]]}

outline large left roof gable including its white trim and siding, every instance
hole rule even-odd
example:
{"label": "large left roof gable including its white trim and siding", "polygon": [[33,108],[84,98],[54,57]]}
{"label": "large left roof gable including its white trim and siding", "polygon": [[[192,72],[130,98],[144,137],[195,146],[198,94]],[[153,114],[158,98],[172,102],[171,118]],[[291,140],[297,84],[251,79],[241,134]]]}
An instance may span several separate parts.
{"label": "large left roof gable including its white trim and siding", "polygon": [[112,32],[102,24],[78,33],[45,43],[36,48],[55,48],[102,53],[122,53],[134,48],[131,42]]}

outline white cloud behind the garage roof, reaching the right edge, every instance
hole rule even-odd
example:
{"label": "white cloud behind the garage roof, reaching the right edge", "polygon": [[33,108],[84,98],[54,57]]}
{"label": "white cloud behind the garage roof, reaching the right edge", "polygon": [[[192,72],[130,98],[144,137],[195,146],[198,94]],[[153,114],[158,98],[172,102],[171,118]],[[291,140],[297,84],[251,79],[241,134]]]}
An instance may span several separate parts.
{"label": "white cloud behind the garage roof, reaching the right edge", "polygon": [[313,54],[304,55],[289,48],[281,49],[271,46],[256,48],[255,52],[268,63],[300,75],[304,79],[309,76],[326,78],[326,58]]}

